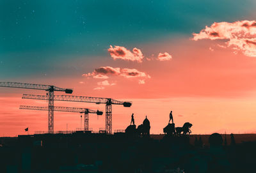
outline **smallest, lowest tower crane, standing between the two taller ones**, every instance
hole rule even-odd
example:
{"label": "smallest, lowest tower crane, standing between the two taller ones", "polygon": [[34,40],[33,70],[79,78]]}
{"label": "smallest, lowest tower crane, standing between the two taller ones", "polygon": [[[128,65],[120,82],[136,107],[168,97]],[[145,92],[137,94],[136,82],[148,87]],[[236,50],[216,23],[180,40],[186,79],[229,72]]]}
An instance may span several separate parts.
{"label": "smallest, lowest tower crane, standing between the two taller ones", "polygon": [[[48,107],[33,107],[33,106],[20,105],[20,109],[48,110]],[[84,131],[89,130],[89,113],[97,114],[98,116],[102,116],[103,114],[103,112],[99,110],[77,108],[77,107],[54,107],[54,111],[83,113],[84,114]]]}

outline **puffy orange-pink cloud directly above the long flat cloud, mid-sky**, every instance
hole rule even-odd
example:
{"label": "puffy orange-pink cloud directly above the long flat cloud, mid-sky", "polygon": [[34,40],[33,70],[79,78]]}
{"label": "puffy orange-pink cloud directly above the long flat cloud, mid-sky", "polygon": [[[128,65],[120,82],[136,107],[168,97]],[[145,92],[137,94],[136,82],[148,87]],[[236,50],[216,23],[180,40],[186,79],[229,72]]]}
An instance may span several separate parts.
{"label": "puffy orange-pink cloud directly above the long flat cloud, mid-sky", "polygon": [[114,46],[110,45],[108,52],[113,59],[123,59],[125,61],[138,61],[139,63],[142,62],[143,54],[140,49],[134,47],[132,52],[125,47],[121,46]]}

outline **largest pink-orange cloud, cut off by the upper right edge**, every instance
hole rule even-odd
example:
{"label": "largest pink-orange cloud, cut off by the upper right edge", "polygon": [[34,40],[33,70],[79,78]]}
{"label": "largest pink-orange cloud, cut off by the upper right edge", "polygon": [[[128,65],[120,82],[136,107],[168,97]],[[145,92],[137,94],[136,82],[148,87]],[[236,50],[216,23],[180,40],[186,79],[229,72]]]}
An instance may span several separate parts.
{"label": "largest pink-orange cloud, cut off by the upper right edge", "polygon": [[192,40],[227,40],[225,43],[245,56],[256,57],[256,21],[242,20],[237,22],[214,22],[211,27],[205,26],[200,33],[193,33]]}

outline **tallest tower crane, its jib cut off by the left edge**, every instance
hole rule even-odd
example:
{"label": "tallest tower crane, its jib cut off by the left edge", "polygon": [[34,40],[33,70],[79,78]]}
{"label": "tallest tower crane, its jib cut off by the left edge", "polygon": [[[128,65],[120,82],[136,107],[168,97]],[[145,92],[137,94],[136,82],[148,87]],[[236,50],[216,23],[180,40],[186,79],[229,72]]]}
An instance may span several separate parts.
{"label": "tallest tower crane, its jib cut off by the left edge", "polygon": [[54,132],[54,91],[64,91],[67,94],[72,94],[72,89],[65,89],[56,86],[48,86],[41,84],[27,84],[20,82],[0,82],[0,87],[17,87],[24,89],[38,89],[48,91],[47,100],[49,103],[48,107],[48,133]]}

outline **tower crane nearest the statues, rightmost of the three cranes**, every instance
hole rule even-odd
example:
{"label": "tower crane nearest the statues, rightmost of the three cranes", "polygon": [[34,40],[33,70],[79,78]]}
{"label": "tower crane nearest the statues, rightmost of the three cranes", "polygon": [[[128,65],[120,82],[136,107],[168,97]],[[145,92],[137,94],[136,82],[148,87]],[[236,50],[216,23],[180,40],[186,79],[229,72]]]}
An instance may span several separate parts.
{"label": "tower crane nearest the statues, rightmost of the three cranes", "polygon": [[[36,99],[36,100],[47,100],[46,96],[35,95],[35,94],[23,94],[22,98]],[[106,133],[112,133],[112,105],[124,105],[124,107],[131,107],[131,102],[123,102],[114,100],[112,98],[99,98],[89,96],[68,96],[68,95],[56,95],[54,96],[56,101],[67,101],[67,102],[87,102],[96,104],[106,104]]]}

